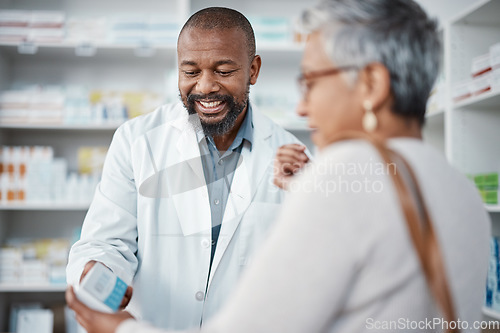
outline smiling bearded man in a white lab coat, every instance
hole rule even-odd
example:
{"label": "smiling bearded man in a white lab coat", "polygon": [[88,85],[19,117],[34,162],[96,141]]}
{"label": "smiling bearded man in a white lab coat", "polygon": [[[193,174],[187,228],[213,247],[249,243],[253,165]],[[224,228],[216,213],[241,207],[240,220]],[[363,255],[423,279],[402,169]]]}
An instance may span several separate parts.
{"label": "smiling bearded man in a white lab coat", "polygon": [[308,161],[249,103],[261,58],[241,13],[195,13],[177,52],[182,103],[116,131],[67,268],[74,285],[103,263],[133,287],[122,306],[130,300],[135,317],[167,329],[211,317],[251,262],[283,198],[278,148],[295,144],[278,164]]}

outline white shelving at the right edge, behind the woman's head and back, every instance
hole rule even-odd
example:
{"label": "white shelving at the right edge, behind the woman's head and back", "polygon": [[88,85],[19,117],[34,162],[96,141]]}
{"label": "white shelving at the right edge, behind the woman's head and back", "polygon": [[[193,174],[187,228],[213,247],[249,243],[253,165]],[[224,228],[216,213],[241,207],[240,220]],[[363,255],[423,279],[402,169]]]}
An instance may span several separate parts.
{"label": "white shelving at the right edge, behind the woman's head and back", "polygon": [[[453,87],[471,78],[472,59],[500,42],[499,13],[500,1],[480,0],[444,27],[446,108],[443,117],[433,115],[428,121],[432,135],[444,139],[448,160],[464,174],[500,172],[500,91],[459,102],[451,98]],[[432,127],[433,122],[439,125]],[[485,205],[485,210],[490,213],[493,234],[500,236],[500,206]],[[500,320],[500,313],[492,309],[484,307],[483,313]]]}

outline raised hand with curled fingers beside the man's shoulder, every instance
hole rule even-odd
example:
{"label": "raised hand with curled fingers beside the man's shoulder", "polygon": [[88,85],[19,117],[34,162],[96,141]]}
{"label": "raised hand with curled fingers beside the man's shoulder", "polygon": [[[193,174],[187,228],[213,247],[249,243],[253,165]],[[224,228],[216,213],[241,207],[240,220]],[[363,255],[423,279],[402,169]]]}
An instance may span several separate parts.
{"label": "raised hand with curled fingers beside the man's shoulder", "polygon": [[274,160],[274,185],[287,189],[293,175],[309,162],[305,150],[305,146],[295,143],[278,148]]}

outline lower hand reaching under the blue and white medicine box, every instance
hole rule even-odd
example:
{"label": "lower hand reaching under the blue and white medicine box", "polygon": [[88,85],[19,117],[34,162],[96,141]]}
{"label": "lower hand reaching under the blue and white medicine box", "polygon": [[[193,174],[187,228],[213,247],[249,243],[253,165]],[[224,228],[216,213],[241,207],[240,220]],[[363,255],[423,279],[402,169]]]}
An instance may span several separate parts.
{"label": "lower hand reaching under the blue and white medicine box", "polygon": [[88,333],[115,333],[123,321],[134,319],[127,311],[104,313],[90,309],[76,298],[71,286],[66,289],[66,302],[75,311],[76,320]]}

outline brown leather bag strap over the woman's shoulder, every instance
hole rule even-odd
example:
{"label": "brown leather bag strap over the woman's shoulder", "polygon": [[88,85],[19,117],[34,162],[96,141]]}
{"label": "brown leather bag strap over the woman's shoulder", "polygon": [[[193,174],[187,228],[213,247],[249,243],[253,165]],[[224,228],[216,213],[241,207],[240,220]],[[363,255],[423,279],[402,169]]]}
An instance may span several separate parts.
{"label": "brown leather bag strap over the woman's shoulder", "polygon": [[[427,211],[422,191],[420,190],[412,168],[400,154],[388,148],[385,142],[363,132],[345,132],[333,138],[332,142],[349,139],[367,140],[377,149],[385,163],[396,166],[398,163],[403,165],[409,176],[407,182],[414,188],[413,193],[409,190],[407,183],[405,183],[402,172],[397,170],[397,168],[394,170],[395,172],[391,173],[391,178],[398,193],[410,237],[429,288],[441,308],[445,320],[448,323],[452,321],[456,323],[457,317],[453,306],[448,279],[446,278],[443,255],[439,247],[432,219]],[[448,329],[446,332],[459,332],[459,330]]]}

